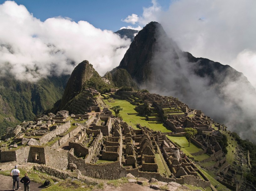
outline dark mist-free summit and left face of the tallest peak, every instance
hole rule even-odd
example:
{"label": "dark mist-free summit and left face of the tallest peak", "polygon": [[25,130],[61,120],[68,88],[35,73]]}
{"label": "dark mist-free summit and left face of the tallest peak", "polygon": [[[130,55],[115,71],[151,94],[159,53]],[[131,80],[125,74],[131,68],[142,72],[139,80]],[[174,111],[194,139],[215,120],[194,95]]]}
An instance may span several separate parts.
{"label": "dark mist-free summit and left face of the tallest peak", "polygon": [[174,50],[174,43],[167,36],[162,25],[158,22],[149,22],[134,37],[118,68],[126,69],[138,84],[150,81],[152,79],[152,57],[159,49],[158,45],[162,44],[163,37],[165,40],[170,40],[169,45]]}

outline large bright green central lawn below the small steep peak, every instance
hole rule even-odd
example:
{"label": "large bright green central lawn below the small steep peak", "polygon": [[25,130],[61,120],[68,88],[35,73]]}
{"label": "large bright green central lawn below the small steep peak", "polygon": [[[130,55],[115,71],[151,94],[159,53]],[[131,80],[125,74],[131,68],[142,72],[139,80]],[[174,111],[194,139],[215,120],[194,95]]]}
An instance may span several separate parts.
{"label": "large bright green central lawn below the small steep peak", "polygon": [[[161,131],[161,132],[171,132],[171,130],[166,129],[162,123],[157,123],[157,121],[146,121],[146,117],[141,116],[135,109],[135,105],[132,105],[126,100],[116,99],[114,103],[106,103],[109,107],[120,105],[123,108],[120,111],[120,115],[123,117],[123,120],[127,122],[128,125],[132,126],[134,129],[137,129],[136,124],[139,123],[142,126],[146,126],[152,130]],[[112,110],[113,112],[113,110]],[[137,113],[134,115],[134,113]],[[133,114],[133,115],[128,115]]]}

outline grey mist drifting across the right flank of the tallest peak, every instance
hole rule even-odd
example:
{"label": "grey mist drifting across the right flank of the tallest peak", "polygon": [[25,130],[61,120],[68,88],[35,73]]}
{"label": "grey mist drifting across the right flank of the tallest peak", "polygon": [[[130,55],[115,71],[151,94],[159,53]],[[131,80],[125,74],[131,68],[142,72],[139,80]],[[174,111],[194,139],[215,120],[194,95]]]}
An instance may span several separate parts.
{"label": "grey mist drifting across the right flank of the tallest peak", "polygon": [[[153,78],[141,88],[179,98],[190,108],[202,110],[241,138],[255,141],[256,91],[240,72],[228,68],[209,85],[211,78],[195,74],[200,65],[189,62],[169,37],[159,32],[151,60]],[[224,75],[225,74],[225,75]]]}

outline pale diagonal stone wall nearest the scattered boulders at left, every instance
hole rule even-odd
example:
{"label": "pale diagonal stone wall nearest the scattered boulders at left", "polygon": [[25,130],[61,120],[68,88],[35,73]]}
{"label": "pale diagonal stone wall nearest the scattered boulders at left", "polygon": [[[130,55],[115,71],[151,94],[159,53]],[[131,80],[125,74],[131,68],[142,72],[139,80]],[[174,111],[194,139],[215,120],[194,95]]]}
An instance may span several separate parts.
{"label": "pale diagonal stone wall nearest the scattered boulders at left", "polygon": [[66,130],[70,128],[70,121],[66,122],[63,125],[56,125],[56,129],[52,130],[51,132],[43,135],[41,138],[39,138],[39,141],[41,144],[47,143],[52,138],[56,137],[56,135],[60,135],[64,133]]}

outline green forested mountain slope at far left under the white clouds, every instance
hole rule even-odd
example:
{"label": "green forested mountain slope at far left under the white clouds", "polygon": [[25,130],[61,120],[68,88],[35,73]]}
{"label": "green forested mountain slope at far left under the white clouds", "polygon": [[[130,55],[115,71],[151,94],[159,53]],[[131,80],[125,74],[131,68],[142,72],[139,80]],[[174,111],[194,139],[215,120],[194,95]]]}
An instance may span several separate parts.
{"label": "green forested mountain slope at far left under the white clouds", "polygon": [[68,75],[52,76],[37,83],[21,82],[10,77],[0,79],[0,135],[8,126],[50,110],[64,92]]}

